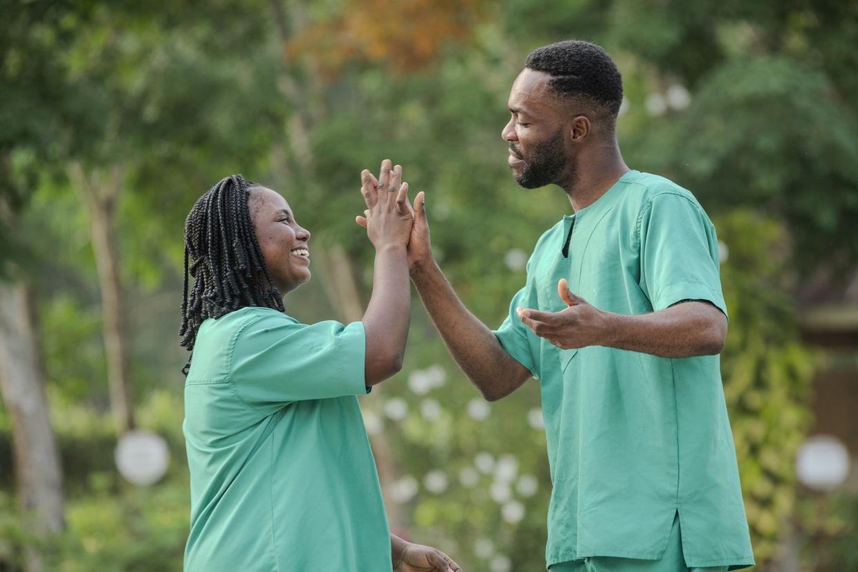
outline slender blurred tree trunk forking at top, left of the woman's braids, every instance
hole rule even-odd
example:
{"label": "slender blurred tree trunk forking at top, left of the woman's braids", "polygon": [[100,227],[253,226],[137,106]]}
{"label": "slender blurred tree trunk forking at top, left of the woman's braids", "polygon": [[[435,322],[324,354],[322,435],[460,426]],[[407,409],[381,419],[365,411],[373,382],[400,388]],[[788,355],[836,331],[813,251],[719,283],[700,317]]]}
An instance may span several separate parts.
{"label": "slender blurred tree trunk forking at top, left of the woman's braids", "polygon": [[124,292],[119,274],[116,208],[122,172],[86,173],[74,163],[69,176],[89,215],[95,266],[101,291],[101,313],[107,358],[107,385],[117,437],[134,429],[134,408],[129,374],[129,340],[125,328]]}

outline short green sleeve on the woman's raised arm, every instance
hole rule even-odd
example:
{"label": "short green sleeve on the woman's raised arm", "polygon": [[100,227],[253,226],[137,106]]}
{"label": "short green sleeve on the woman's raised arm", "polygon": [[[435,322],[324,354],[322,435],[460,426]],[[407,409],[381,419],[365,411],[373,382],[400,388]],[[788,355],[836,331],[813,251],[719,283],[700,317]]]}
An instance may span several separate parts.
{"label": "short green sleeve on the woman's raised arm", "polygon": [[230,374],[239,397],[258,410],[366,394],[365,352],[361,322],[306,325],[271,312],[237,334]]}

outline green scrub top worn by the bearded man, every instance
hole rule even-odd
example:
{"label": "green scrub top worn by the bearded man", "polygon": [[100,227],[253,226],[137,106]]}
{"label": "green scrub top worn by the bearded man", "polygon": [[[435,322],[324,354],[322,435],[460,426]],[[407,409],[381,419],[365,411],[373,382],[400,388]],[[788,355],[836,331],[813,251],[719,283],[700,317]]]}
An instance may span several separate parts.
{"label": "green scrub top worn by the bearded man", "polygon": [[560,278],[600,310],[707,300],[726,315],[718,262],[715,228],[694,196],[637,171],[537,242],[495,335],[540,380],[553,482],[547,565],[660,559],[677,512],[689,567],[753,564],[719,357],[561,350],[516,315],[565,309]]}

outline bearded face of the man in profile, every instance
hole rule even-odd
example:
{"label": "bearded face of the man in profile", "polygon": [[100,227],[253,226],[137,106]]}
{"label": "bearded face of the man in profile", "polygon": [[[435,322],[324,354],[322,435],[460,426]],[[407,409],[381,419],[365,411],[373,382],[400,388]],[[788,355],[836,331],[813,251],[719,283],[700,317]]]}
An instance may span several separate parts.
{"label": "bearded face of the man in profile", "polygon": [[565,146],[563,105],[548,93],[551,79],[525,68],[512,84],[511,118],[501,136],[510,145],[512,176],[525,189],[536,189],[574,176]]}

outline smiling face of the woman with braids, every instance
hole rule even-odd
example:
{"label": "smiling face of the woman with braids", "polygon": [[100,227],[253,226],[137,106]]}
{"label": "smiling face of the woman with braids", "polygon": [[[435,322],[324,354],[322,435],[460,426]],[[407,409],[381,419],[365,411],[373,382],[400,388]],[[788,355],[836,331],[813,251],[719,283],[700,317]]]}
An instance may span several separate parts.
{"label": "smiling face of the woman with braids", "polygon": [[286,199],[273,190],[252,188],[248,207],[265,266],[285,296],[310,280],[310,232],[298,225]]}

